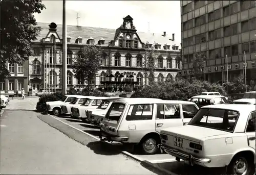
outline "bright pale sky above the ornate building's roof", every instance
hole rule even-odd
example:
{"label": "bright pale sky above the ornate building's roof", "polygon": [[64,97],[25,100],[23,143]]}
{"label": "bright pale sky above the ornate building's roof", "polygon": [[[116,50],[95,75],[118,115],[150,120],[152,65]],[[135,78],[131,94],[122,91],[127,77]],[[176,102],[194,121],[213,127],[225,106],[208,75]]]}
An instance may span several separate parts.
{"label": "bright pale sky above the ornate building's roof", "polygon": [[[37,22],[62,23],[62,1],[42,1],[47,9],[35,14]],[[181,41],[180,1],[66,1],[69,25],[117,29],[123,17],[130,15],[139,32],[175,33]]]}

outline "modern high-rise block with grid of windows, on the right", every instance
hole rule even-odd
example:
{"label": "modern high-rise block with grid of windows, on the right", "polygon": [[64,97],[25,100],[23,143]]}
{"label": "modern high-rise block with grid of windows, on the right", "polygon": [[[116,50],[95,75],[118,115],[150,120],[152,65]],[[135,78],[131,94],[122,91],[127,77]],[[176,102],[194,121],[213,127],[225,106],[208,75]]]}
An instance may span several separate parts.
{"label": "modern high-rise block with grid of windows, on the right", "polygon": [[246,67],[247,84],[255,84],[255,4],[256,1],[181,1],[181,76],[193,76],[193,57],[201,52],[207,58],[205,80],[223,82],[227,76],[229,80],[244,76]]}

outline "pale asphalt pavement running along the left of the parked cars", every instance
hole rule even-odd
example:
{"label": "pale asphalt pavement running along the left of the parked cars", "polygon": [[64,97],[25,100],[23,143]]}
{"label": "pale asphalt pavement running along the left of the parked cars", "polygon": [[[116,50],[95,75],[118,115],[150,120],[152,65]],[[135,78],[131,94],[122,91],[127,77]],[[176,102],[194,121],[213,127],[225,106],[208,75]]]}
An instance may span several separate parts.
{"label": "pale asphalt pavement running along the left of the parked cars", "polygon": [[[94,138],[83,135],[83,144],[70,139],[40,120],[34,106],[33,98],[13,99],[5,109],[0,137],[2,174],[155,174]],[[56,121],[48,120],[53,125]]]}

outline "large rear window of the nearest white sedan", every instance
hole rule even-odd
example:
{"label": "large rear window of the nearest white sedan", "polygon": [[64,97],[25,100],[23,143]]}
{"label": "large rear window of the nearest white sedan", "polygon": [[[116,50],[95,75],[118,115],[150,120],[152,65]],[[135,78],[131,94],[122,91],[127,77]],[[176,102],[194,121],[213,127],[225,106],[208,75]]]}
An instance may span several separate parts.
{"label": "large rear window of the nearest white sedan", "polygon": [[228,109],[201,108],[188,125],[233,132],[239,113]]}

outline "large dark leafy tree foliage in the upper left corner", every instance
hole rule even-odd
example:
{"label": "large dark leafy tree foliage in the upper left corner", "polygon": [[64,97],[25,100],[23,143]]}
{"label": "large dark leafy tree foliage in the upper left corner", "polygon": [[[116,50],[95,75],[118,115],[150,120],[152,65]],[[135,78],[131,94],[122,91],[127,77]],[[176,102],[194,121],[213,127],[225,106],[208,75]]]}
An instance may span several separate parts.
{"label": "large dark leafy tree foliage in the upper left corner", "polygon": [[46,7],[41,0],[1,1],[1,64],[0,81],[9,76],[5,63],[23,63],[32,55],[31,41],[36,40],[40,27],[33,13]]}

